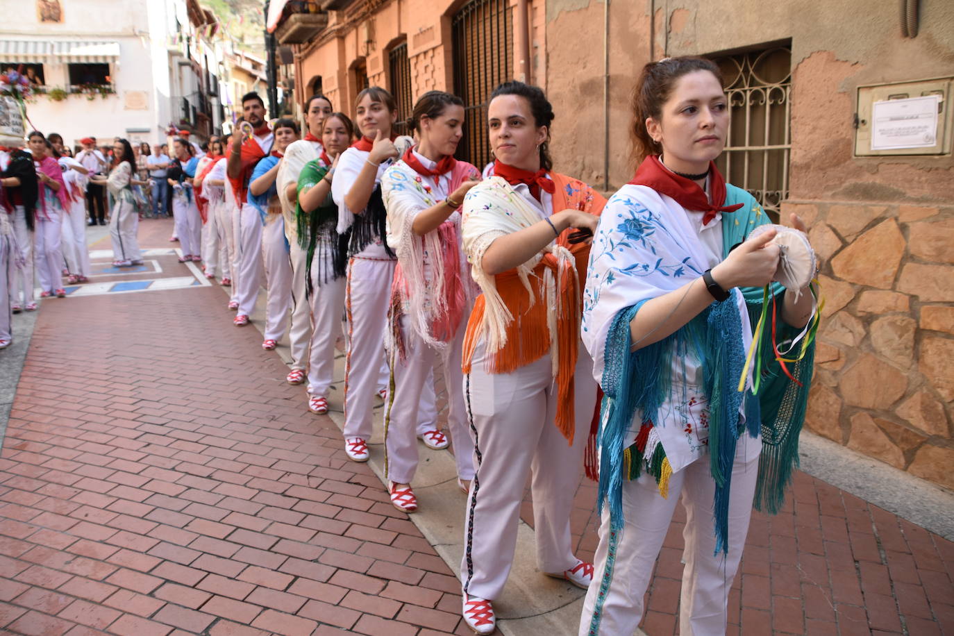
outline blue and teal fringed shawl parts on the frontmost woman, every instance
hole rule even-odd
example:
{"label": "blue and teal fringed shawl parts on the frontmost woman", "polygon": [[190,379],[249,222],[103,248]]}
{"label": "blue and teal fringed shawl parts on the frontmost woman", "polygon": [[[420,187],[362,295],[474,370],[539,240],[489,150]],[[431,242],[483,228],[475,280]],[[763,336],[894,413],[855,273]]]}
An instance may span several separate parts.
{"label": "blue and teal fringed shawl parts on the frontmost woman", "polygon": [[[769,218],[756,200],[744,190],[727,184],[725,205],[744,204],[733,214],[722,215],[723,257],[757,226]],[[762,311],[764,290],[742,288],[750,323],[755,328]],[[773,283],[771,298],[781,303],[784,289]],[[645,301],[643,301],[645,302]],[[784,490],[798,466],[798,433],[805,416],[805,405],[811,385],[814,344],[803,359],[791,365],[790,372],[801,383],[789,380],[781,371],[772,349],[771,314],[764,325],[757,355],[761,357],[761,385],[757,397],[744,393],[747,426],[738,424],[738,409],[743,394],[736,390],[745,352],[741,343],[741,320],[736,304],[731,301],[713,303],[705,311],[666,339],[631,352],[630,322],[642,306],[637,303],[620,311],[612,321],[606,341],[606,365],[603,390],[606,393],[600,426],[600,481],[598,501],[610,503],[614,529],[622,525],[621,488],[623,479],[638,478],[645,469],[665,489],[664,453],[659,444],[650,461],[642,449],[624,447],[626,431],[636,411],[644,420],[653,420],[656,410],[669,396],[672,359],[695,355],[703,368],[703,388],[710,400],[709,456],[716,481],[716,552],[728,549],[728,496],[736,441],[748,429],[755,436],[760,429],[762,452],[758,465],[755,507],[774,514],[784,501]],[[779,344],[794,338],[800,330],[778,319]],[[636,450],[640,452],[635,452]]]}

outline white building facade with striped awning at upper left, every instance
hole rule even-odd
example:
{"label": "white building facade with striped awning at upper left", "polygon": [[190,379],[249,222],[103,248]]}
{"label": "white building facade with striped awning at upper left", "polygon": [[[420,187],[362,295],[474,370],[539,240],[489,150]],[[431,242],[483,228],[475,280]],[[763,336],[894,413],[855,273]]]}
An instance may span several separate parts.
{"label": "white building facade with striped awning at upper left", "polygon": [[0,64],[37,78],[32,127],[155,143],[170,125],[208,136],[221,124],[216,20],[197,0],[52,4],[11,3],[0,26]]}

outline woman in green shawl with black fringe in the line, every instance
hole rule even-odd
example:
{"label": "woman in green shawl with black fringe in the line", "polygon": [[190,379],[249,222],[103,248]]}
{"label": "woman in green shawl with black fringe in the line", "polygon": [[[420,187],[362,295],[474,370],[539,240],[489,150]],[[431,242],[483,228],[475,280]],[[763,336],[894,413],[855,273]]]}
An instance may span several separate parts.
{"label": "woman in green shawl with black fringe in the line", "polygon": [[331,197],[331,185],[338,157],[354,137],[354,125],[346,114],[331,113],[321,128],[321,154],[301,169],[295,209],[296,236],[306,258],[304,293],[312,322],[308,410],[318,415],[328,412],[327,395],[334,381],[335,341],[342,333],[350,238],[347,233],[338,234],[338,206]]}

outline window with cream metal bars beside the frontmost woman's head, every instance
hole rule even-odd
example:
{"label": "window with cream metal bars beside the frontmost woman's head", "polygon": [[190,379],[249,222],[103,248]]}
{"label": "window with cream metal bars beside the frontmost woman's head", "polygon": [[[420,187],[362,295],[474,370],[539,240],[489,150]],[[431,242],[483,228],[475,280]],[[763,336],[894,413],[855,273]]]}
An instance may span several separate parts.
{"label": "window with cream metal bars beside the frontmost woman's head", "polygon": [[788,196],[791,153],[792,50],[712,56],[722,72],[731,119],[725,152],[716,159],[725,180],[744,188],[778,219]]}

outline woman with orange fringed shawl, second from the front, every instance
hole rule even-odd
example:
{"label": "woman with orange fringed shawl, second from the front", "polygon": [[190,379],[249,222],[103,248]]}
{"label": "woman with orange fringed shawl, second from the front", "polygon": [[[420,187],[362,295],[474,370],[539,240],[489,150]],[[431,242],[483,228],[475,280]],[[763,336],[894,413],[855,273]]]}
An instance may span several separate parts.
{"label": "woman with orange fringed shawl, second from the front", "polygon": [[513,562],[528,475],[540,570],[584,589],[592,580],[592,565],[573,556],[570,508],[596,400],[579,339],[587,237],[606,201],[553,171],[552,120],[540,89],[494,89],[487,125],[496,161],[464,203],[464,250],[483,294],[464,340],[477,474],[461,582],[464,618],[481,634],[494,629],[491,601]]}

